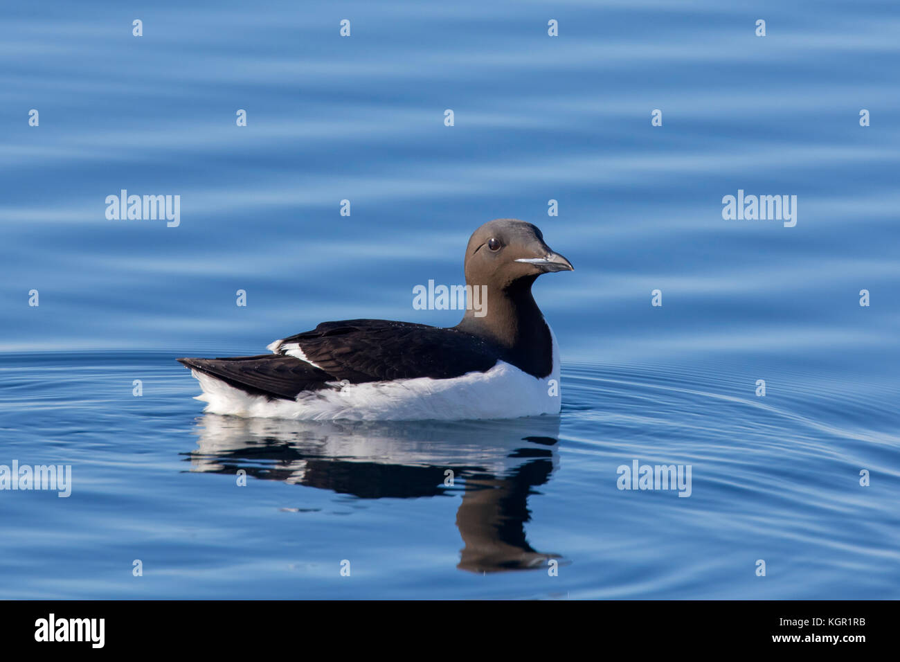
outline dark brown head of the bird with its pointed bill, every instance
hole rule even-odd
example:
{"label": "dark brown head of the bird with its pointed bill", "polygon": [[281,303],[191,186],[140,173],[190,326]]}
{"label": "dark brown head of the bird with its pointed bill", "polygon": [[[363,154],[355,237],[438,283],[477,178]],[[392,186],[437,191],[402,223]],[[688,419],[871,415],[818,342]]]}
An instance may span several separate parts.
{"label": "dark brown head of the bird with its pointed bill", "polygon": [[465,249],[465,282],[507,290],[530,286],[549,271],[572,271],[572,264],[544,243],[535,225],[512,218],[486,222],[474,231]]}

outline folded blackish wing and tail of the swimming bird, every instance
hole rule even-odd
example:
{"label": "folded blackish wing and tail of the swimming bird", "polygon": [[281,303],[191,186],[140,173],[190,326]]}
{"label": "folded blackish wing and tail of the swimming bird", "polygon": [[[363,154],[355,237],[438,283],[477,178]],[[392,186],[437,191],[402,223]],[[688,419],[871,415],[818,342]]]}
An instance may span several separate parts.
{"label": "folded blackish wing and tail of the swimming bird", "polygon": [[[322,322],[273,349],[275,354],[259,357],[178,360],[248,393],[293,399],[341,381],[449,379],[490,370],[500,358],[499,349],[464,331],[385,320]],[[294,349],[310,363],[291,356]]]}

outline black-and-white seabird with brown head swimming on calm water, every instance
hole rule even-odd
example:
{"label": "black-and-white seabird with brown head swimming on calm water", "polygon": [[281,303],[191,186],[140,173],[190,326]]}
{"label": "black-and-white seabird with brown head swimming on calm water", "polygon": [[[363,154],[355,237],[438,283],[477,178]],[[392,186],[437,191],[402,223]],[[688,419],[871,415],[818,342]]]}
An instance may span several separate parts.
{"label": "black-and-white seabird with brown head swimming on calm water", "polygon": [[465,282],[483,288],[454,327],[322,322],[272,354],[178,358],[206,413],[299,420],[464,420],[560,412],[560,358],[531,286],[572,270],[535,225],[487,222],[465,249]]}

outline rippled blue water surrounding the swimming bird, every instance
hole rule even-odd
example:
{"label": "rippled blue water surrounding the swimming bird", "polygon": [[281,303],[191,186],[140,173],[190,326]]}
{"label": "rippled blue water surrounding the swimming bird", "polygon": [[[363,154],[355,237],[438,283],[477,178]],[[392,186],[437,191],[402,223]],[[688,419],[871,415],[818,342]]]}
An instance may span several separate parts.
{"label": "rippled blue water surrounding the swimming bird", "polygon": [[[0,465],[73,485],[0,492],[0,597],[900,597],[896,4],[2,13]],[[180,195],[180,224],[107,220],[121,189]],[[724,220],[738,189],[797,195],[796,227]],[[460,282],[503,216],[576,268],[535,287],[558,418],[192,399],[176,356],[454,324],[412,287]],[[617,489],[635,459],[690,465],[689,498]]]}

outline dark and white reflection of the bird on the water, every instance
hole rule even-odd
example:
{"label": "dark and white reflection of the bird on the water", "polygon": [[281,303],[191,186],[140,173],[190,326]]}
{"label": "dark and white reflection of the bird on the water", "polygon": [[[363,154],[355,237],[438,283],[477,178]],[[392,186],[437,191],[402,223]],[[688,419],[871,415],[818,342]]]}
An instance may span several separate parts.
{"label": "dark and white reflection of the bird on the water", "polygon": [[[455,494],[458,568],[541,569],[558,554],[527,542],[530,494],[558,464],[559,417],[463,422],[300,422],[206,414],[192,471],[237,474],[360,499]],[[448,471],[449,470],[449,471]],[[447,480],[449,476],[453,481]],[[450,483],[450,485],[447,485]]]}

